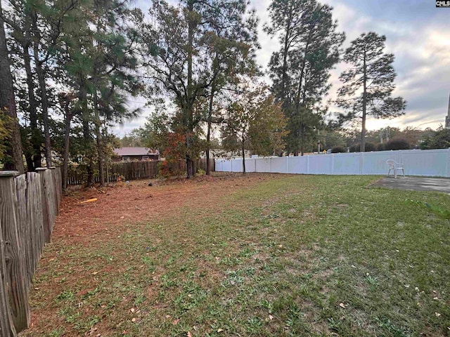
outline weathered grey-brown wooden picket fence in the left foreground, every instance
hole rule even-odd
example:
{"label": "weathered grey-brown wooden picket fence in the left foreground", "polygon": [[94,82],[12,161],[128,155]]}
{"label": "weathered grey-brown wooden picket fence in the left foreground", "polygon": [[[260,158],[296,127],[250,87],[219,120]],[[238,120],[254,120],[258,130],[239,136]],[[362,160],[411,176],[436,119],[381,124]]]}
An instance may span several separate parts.
{"label": "weathered grey-brown wooden picket fence in the left foreground", "polygon": [[30,323],[28,296],[62,199],[60,168],[0,171],[0,337]]}

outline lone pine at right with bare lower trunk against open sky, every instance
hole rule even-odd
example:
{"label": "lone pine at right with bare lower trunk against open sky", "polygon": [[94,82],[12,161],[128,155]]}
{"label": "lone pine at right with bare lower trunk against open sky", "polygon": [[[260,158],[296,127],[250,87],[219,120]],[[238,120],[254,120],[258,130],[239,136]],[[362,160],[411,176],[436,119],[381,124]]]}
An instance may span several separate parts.
{"label": "lone pine at right with bare lower trunk against open sky", "polygon": [[[366,118],[394,118],[404,114],[406,101],[393,98],[396,77],[393,54],[384,53],[386,37],[375,32],[361,34],[345,50],[344,60],[351,65],[342,72],[337,103],[347,111],[342,122],[361,119],[361,152],[366,144]],[[361,92],[361,93],[360,93]]]}

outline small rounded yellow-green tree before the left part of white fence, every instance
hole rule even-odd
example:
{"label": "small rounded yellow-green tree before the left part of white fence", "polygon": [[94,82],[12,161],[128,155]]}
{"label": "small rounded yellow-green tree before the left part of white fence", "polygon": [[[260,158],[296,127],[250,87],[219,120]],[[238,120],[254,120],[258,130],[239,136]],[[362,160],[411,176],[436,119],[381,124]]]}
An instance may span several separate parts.
{"label": "small rounded yellow-green tree before the left part of white fence", "polygon": [[241,151],[245,173],[245,150],[265,156],[283,151],[285,117],[281,104],[264,87],[245,88],[226,111],[226,122],[221,128],[225,150]]}

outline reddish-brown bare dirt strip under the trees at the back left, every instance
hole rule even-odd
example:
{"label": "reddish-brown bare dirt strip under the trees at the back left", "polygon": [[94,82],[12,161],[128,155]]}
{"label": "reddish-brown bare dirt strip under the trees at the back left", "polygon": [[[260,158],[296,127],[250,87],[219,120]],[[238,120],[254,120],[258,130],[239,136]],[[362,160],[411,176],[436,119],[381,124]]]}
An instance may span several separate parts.
{"label": "reddish-brown bare dirt strip under the trees at the back left", "polygon": [[[82,241],[85,237],[120,230],[127,223],[167,217],[184,206],[210,209],[221,197],[237,190],[236,185],[239,189],[250,187],[262,179],[264,174],[217,174],[168,183],[134,180],[101,190],[77,190],[63,199],[53,240],[72,237],[72,242]],[[148,186],[150,182],[153,186]],[[94,198],[97,200],[81,203]]]}

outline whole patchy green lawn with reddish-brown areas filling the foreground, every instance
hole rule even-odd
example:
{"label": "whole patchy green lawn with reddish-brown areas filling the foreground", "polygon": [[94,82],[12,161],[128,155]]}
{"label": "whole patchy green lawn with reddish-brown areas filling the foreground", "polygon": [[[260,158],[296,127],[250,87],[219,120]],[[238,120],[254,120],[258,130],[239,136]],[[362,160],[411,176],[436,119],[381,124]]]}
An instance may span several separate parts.
{"label": "whole patchy green lawn with reddish-brown areas filling the foreground", "polygon": [[[406,199],[450,198],[377,179],[248,174],[75,196],[23,336],[449,336],[450,223]],[[106,195],[129,216],[104,211]]]}

